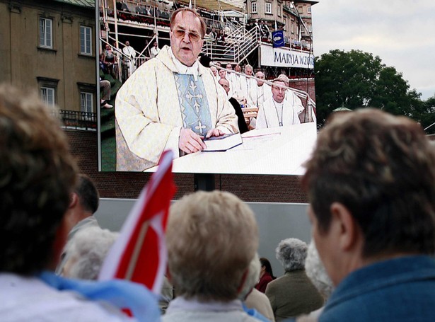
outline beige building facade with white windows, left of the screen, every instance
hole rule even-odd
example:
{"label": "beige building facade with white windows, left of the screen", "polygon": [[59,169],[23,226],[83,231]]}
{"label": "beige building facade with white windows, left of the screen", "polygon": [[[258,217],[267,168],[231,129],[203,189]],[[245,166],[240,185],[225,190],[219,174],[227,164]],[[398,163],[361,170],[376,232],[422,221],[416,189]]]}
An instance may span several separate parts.
{"label": "beige building facade with white windows, left of the screen", "polygon": [[95,1],[0,0],[0,81],[96,112]]}

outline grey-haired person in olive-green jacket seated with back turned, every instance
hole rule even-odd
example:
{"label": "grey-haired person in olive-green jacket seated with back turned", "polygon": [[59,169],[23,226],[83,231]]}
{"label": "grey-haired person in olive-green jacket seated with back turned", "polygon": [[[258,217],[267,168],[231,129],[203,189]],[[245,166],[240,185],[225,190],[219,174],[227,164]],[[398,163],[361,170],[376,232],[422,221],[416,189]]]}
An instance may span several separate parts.
{"label": "grey-haired person in olive-green jacket seated with back turned", "polygon": [[296,238],[287,238],[278,244],[277,259],[285,273],[270,282],[266,289],[275,321],[308,314],[323,305],[323,297],[304,269],[307,248],[306,243]]}

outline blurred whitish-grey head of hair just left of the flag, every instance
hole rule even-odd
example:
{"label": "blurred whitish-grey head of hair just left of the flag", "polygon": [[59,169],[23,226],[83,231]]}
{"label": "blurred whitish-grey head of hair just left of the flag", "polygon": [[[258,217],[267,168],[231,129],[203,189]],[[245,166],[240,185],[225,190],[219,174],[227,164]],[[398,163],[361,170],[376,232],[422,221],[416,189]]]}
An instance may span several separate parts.
{"label": "blurred whitish-grey head of hair just left of the flag", "polygon": [[77,231],[66,245],[68,260],[62,275],[97,280],[103,261],[119,234],[91,226]]}

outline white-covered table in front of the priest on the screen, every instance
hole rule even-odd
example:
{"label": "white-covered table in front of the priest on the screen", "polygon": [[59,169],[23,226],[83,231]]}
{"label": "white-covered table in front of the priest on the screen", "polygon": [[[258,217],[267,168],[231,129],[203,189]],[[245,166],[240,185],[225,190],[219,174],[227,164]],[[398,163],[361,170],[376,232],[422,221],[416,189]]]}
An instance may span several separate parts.
{"label": "white-covered table in front of the priest on the screen", "polygon": [[[315,122],[309,122],[252,130],[242,137],[242,145],[224,152],[201,151],[174,159],[173,172],[302,175],[317,130]],[[156,167],[146,171],[156,171]]]}

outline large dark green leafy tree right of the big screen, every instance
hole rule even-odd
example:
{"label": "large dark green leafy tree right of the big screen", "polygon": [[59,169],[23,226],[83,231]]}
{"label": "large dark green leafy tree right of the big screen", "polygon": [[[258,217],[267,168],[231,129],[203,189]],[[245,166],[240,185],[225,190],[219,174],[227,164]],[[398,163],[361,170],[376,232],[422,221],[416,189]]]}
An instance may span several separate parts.
{"label": "large dark green leafy tree right of the big screen", "polygon": [[340,107],[370,106],[415,120],[424,111],[421,94],[410,91],[401,73],[386,67],[378,56],[360,50],[331,50],[315,57],[315,91],[319,127]]}

